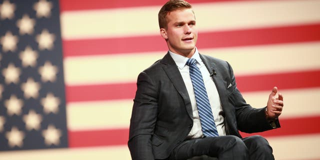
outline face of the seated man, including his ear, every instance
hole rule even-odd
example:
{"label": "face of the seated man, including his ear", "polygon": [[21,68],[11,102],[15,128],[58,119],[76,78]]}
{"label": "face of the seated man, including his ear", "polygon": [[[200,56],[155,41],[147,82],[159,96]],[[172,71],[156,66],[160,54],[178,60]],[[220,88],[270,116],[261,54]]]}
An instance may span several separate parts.
{"label": "face of the seated man, including his ear", "polygon": [[166,15],[167,28],[160,33],[167,41],[170,51],[190,57],[195,51],[197,29],[191,8],[178,9]]}

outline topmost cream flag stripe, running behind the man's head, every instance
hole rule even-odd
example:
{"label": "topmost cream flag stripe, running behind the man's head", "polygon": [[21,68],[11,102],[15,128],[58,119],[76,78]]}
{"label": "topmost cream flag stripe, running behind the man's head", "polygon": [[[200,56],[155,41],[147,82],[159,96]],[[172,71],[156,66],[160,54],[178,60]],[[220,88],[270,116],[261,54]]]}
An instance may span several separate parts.
{"label": "topmost cream flag stripe, running behind the man's head", "polygon": [[[64,11],[61,13],[62,38],[158,34],[157,13],[160,7]],[[320,21],[319,0],[195,3],[193,8],[199,31],[305,24]]]}

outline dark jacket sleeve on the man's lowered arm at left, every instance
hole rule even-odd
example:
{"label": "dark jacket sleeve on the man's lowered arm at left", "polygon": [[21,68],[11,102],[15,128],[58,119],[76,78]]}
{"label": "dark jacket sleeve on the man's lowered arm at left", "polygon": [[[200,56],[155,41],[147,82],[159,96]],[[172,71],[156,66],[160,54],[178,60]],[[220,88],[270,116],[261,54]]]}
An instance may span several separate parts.
{"label": "dark jacket sleeve on the man's lowered arm at left", "polygon": [[141,72],[133,99],[128,147],[132,160],[154,159],[151,137],[157,116],[157,90],[154,81]]}

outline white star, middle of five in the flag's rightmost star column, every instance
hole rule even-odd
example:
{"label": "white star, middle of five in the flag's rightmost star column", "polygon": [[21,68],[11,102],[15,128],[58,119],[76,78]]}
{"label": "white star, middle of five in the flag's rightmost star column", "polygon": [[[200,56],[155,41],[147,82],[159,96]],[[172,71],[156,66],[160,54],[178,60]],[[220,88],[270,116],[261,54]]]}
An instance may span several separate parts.
{"label": "white star, middle of five in the flag's rightmost star column", "polygon": [[38,71],[41,75],[41,80],[43,82],[46,82],[46,81],[53,82],[56,79],[55,74],[57,73],[58,68],[56,66],[52,65],[50,61],[45,61],[43,66],[39,67]]}

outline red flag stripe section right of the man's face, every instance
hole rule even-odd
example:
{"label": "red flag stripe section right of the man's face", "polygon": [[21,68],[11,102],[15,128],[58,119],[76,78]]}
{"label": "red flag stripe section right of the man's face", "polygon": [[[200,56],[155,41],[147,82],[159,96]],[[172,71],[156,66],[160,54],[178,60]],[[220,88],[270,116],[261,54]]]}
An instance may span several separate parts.
{"label": "red flag stripe section right of the man's face", "polygon": [[230,47],[320,40],[320,23],[200,34],[198,47]]}

